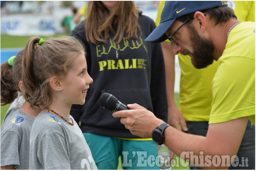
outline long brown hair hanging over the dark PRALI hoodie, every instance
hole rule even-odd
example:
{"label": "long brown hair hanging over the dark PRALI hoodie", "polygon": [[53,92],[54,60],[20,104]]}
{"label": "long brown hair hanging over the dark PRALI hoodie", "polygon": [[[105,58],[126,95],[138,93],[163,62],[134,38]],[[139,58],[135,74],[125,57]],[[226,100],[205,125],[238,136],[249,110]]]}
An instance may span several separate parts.
{"label": "long brown hair hanging over the dark PRALI hoodie", "polygon": [[[118,38],[117,43],[123,39],[134,37],[137,39],[137,32],[141,30],[138,24],[139,9],[133,1],[118,1],[112,11],[109,11],[100,1],[88,1],[88,16],[85,22],[86,39],[92,43],[106,42],[109,33],[114,33],[112,24],[117,27],[112,41]],[[115,14],[117,19],[112,23]]]}

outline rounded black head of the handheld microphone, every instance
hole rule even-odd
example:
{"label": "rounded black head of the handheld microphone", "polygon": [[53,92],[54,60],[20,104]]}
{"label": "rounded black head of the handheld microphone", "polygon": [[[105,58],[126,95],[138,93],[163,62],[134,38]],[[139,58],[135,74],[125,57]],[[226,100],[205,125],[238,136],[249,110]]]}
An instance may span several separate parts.
{"label": "rounded black head of the handheld microphone", "polygon": [[116,108],[117,102],[118,99],[109,93],[103,93],[99,100],[100,105],[110,111]]}

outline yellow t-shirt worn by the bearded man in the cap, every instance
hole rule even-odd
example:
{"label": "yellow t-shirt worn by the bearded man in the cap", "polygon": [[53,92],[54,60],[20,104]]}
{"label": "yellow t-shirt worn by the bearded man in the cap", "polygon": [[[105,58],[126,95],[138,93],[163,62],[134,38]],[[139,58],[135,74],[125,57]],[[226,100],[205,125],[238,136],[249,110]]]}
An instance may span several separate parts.
{"label": "yellow t-shirt worn by the bearded man in the cap", "polygon": [[255,23],[244,22],[229,33],[212,80],[209,124],[249,116],[255,125]]}

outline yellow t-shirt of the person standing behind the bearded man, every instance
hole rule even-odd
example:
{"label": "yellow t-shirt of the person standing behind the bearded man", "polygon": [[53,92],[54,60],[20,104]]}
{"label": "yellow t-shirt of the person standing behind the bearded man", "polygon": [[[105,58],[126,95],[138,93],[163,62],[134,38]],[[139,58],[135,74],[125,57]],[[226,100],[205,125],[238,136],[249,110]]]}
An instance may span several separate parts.
{"label": "yellow t-shirt of the person standing behind the bearded man", "polygon": [[[156,25],[160,23],[164,2],[161,1],[159,4]],[[255,21],[255,1],[229,2],[229,6],[234,9],[240,22]],[[181,68],[180,111],[186,121],[209,121],[212,108],[212,79],[216,72],[217,62],[214,61],[207,68],[196,69],[191,64],[189,56],[181,54],[178,56]]]}

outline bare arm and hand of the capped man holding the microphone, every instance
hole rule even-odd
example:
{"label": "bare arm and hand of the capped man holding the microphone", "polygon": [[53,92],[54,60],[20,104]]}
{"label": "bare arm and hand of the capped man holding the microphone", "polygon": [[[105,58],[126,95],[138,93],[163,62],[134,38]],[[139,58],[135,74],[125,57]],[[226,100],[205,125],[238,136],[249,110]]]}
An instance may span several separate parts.
{"label": "bare arm and hand of the capped man holding the microphone", "polygon": [[[121,123],[134,135],[150,137],[151,132],[163,123],[140,105],[127,106],[131,110],[117,111],[113,116],[122,117]],[[169,126],[164,131],[164,144],[181,158],[187,159],[189,163],[193,163],[194,156],[202,156],[204,161],[199,162],[202,163],[199,167],[204,169],[228,169],[233,162],[231,159],[234,159],[232,156],[237,154],[247,122],[248,117],[241,117],[228,122],[210,124],[206,137],[187,134]],[[189,151],[193,152],[192,156],[186,155]],[[223,157],[230,158],[227,165]]]}

